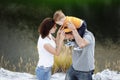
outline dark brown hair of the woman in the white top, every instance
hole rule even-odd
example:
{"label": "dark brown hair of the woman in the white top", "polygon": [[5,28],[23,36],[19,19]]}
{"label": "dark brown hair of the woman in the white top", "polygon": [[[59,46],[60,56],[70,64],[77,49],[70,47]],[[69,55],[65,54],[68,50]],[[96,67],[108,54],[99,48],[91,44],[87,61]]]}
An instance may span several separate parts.
{"label": "dark brown hair of the woman in the white top", "polygon": [[45,38],[54,25],[55,21],[52,18],[45,18],[38,27],[38,32],[41,37]]}

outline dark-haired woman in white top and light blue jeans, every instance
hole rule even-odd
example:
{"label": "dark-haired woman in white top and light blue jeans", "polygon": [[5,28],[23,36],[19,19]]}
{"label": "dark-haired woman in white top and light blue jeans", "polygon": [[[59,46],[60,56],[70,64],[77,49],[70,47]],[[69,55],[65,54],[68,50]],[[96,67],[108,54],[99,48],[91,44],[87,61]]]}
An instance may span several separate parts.
{"label": "dark-haired woman in white top and light blue jeans", "polygon": [[36,67],[38,80],[50,80],[54,55],[59,55],[64,40],[64,31],[58,30],[56,39],[52,36],[56,32],[56,24],[52,18],[45,18],[38,28],[39,61]]}

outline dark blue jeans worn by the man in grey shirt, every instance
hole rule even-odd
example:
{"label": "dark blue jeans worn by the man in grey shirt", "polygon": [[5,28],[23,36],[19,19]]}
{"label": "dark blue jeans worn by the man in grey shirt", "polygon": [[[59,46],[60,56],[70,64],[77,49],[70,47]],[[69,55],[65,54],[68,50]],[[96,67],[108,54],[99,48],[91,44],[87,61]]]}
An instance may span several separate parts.
{"label": "dark blue jeans worn by the man in grey shirt", "polygon": [[83,71],[76,71],[71,66],[66,73],[65,80],[92,80],[92,74],[94,70],[83,72]]}

